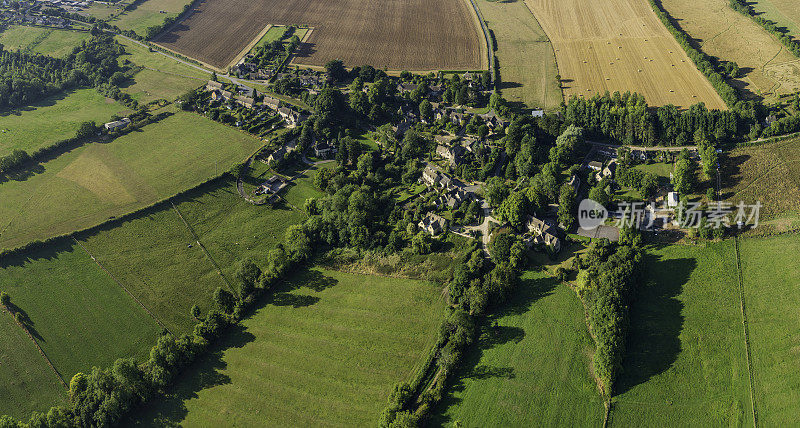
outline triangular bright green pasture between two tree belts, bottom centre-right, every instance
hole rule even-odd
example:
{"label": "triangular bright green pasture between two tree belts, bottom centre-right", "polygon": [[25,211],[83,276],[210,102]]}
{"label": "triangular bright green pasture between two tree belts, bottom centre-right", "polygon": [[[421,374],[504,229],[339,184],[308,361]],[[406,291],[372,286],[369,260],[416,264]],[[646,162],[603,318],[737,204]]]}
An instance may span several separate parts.
{"label": "triangular bright green pasture between two tree belts, bottom centre-right", "polygon": [[511,302],[483,324],[433,425],[600,427],[605,408],[592,352],[575,292],[527,272]]}

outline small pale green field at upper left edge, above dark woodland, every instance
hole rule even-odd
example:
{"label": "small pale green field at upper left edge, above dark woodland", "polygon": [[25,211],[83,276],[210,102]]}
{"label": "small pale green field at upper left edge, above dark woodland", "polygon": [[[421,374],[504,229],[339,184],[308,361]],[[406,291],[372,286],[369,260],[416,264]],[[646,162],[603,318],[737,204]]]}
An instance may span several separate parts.
{"label": "small pale green field at upper left edge, above dark woodland", "polygon": [[0,43],[6,50],[21,50],[60,58],[71,53],[75,46],[79,46],[89,37],[91,35],[88,32],[12,25],[0,33]]}

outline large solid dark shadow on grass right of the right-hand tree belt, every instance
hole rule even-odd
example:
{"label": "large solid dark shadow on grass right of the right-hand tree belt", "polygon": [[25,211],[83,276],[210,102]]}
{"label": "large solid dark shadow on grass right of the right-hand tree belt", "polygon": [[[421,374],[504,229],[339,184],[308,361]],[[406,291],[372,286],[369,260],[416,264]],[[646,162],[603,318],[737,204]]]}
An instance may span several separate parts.
{"label": "large solid dark shadow on grass right of the right-hand tree belt", "polygon": [[615,395],[668,370],[681,352],[679,335],[683,330],[684,305],[677,296],[697,267],[697,261],[658,260],[648,255],[643,264],[647,267],[647,282],[635,292],[631,304],[627,350]]}

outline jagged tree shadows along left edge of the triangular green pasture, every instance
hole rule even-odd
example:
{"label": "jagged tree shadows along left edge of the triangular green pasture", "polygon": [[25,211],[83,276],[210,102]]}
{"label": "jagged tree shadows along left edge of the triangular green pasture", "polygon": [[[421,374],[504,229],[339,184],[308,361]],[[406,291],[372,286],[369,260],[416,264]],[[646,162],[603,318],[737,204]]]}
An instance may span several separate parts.
{"label": "jagged tree shadows along left edge of the triangular green pasture", "polygon": [[478,340],[465,352],[462,363],[459,364],[453,379],[448,381],[446,392],[431,413],[426,426],[443,426],[452,422],[446,412],[448,408],[458,405],[462,401],[456,394],[463,392],[466,388],[465,380],[513,379],[516,376],[513,367],[499,367],[481,362],[486,350],[510,343],[516,344],[525,338],[524,329],[497,326],[495,321],[505,316],[528,312],[534,303],[552,294],[557,284],[555,279],[549,277],[522,280],[509,302],[478,326]]}

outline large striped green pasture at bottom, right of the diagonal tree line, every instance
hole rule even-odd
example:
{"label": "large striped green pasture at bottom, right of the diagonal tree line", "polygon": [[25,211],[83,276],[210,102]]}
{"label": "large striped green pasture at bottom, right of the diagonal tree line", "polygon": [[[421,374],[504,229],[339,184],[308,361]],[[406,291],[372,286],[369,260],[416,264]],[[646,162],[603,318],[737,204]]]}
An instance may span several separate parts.
{"label": "large striped green pasture at bottom, right of the diagonal tree line", "polygon": [[374,426],[436,340],[426,282],[303,270],[194,364],[140,426]]}

